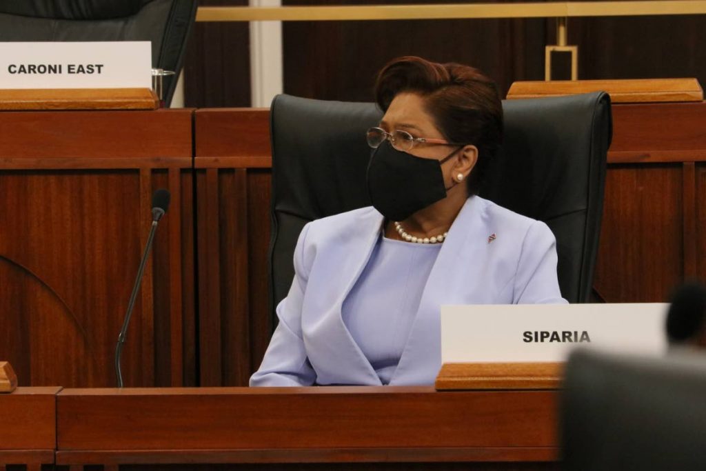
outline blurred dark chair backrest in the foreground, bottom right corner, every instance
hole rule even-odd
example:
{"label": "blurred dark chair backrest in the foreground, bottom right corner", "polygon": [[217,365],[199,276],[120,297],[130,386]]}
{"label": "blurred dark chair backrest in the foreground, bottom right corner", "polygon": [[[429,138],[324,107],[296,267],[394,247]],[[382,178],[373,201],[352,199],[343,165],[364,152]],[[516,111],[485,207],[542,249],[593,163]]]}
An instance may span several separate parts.
{"label": "blurred dark chair backrest in the foreground, bottom right corner", "polygon": [[566,366],[567,471],[705,470],[706,354],[576,352]]}

